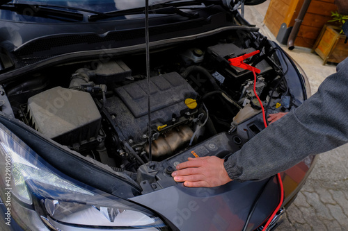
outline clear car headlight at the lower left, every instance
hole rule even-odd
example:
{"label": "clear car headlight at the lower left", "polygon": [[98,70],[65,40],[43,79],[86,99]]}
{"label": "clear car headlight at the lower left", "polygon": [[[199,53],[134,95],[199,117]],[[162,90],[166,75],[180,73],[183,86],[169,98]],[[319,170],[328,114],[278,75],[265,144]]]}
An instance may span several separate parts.
{"label": "clear car headlight at the lower left", "polygon": [[[2,124],[0,176],[4,186],[1,196],[8,198],[10,191],[16,221],[25,214],[35,214],[54,230],[166,230],[166,225],[148,210],[63,176]],[[36,212],[29,214],[21,209]],[[26,225],[30,229],[39,227],[35,222]]]}

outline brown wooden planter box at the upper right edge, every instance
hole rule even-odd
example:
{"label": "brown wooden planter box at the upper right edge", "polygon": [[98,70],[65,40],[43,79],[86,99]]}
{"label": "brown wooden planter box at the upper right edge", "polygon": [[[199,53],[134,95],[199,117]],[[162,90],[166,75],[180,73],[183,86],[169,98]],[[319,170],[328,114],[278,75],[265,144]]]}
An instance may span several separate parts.
{"label": "brown wooden planter box at the upper right edge", "polygon": [[312,52],[317,53],[326,62],[341,62],[348,57],[348,43],[346,35],[340,34],[338,26],[325,24],[315,42]]}

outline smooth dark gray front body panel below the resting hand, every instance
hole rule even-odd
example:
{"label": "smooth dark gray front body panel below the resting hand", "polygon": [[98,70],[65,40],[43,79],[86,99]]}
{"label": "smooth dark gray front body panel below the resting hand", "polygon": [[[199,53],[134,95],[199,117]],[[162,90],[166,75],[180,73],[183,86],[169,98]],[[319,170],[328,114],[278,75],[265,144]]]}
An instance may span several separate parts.
{"label": "smooth dark gray front body panel below the resting hand", "polygon": [[[267,182],[268,179],[230,182],[215,188],[187,188],[180,184],[130,200],[157,211],[177,230],[242,230],[258,196],[256,192]],[[260,208],[260,214],[255,213],[248,226],[251,229],[262,224],[262,213],[270,214],[279,203],[276,182],[271,180],[268,187],[263,189],[265,198],[262,198],[268,205]]]}

